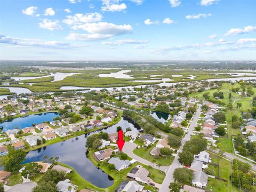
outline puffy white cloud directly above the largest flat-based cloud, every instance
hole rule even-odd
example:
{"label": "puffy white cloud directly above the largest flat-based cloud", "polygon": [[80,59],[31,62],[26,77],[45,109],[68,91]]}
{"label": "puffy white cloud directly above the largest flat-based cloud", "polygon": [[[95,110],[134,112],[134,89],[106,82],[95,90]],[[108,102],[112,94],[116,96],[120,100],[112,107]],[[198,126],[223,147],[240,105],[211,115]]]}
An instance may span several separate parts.
{"label": "puffy white cloud directly above the largest flat-based cloud", "polygon": [[101,21],[102,19],[102,15],[100,13],[86,13],[86,14],[82,14],[82,13],[76,13],[73,16],[72,15],[67,15],[66,16],[67,19],[63,20],[63,23],[67,24],[67,25],[79,25],[79,24],[83,24],[83,23],[89,23],[89,22],[98,22]]}

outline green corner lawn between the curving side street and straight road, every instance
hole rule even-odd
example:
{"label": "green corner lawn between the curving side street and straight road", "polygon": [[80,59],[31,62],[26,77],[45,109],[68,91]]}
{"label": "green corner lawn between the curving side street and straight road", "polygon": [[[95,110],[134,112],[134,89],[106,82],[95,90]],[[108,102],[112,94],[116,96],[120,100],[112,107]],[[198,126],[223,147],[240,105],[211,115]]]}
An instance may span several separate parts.
{"label": "green corner lawn between the curving side street and straight road", "polygon": [[174,159],[173,156],[171,157],[155,157],[153,155],[150,155],[150,151],[156,146],[156,143],[154,145],[152,145],[151,147],[142,147],[142,148],[138,148],[138,149],[134,149],[133,153],[147,159],[148,161],[152,162],[152,163],[156,163],[158,165],[161,166],[167,166],[167,165],[171,165],[172,161]]}

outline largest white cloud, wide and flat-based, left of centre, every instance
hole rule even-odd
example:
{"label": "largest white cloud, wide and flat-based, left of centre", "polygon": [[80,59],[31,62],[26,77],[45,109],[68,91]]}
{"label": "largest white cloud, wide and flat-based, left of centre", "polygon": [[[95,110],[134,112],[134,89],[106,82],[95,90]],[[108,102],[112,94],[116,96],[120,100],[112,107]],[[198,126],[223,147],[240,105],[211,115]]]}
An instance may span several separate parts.
{"label": "largest white cloud, wide and flat-based, left of centre", "polygon": [[114,23],[98,22],[85,23],[83,25],[73,26],[73,29],[83,29],[89,34],[69,34],[66,38],[78,41],[97,41],[108,39],[110,37],[131,33],[131,25],[115,25]]}

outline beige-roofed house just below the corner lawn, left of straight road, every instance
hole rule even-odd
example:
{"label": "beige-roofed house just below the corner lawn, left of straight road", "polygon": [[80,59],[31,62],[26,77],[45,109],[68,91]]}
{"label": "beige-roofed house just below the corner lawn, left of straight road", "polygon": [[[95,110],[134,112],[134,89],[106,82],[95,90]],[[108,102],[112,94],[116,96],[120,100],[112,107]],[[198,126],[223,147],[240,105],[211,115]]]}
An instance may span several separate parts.
{"label": "beige-roofed house just below the corner lawn, left of straight road", "polygon": [[127,173],[127,178],[130,178],[132,180],[142,182],[144,184],[148,184],[150,181],[150,178],[148,177],[148,170],[144,167],[138,165],[137,167],[134,167],[130,173]]}

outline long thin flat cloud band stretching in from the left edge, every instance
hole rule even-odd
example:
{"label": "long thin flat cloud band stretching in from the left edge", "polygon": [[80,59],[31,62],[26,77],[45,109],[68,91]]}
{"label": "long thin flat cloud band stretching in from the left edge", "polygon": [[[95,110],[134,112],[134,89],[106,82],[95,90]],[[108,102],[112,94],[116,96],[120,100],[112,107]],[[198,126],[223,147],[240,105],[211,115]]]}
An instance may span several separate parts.
{"label": "long thin flat cloud band stretching in from the left edge", "polygon": [[23,47],[42,47],[47,49],[75,49],[78,47],[85,46],[85,45],[71,45],[70,43],[58,42],[58,41],[43,41],[41,39],[9,37],[1,34],[0,34],[0,43],[23,46]]}

